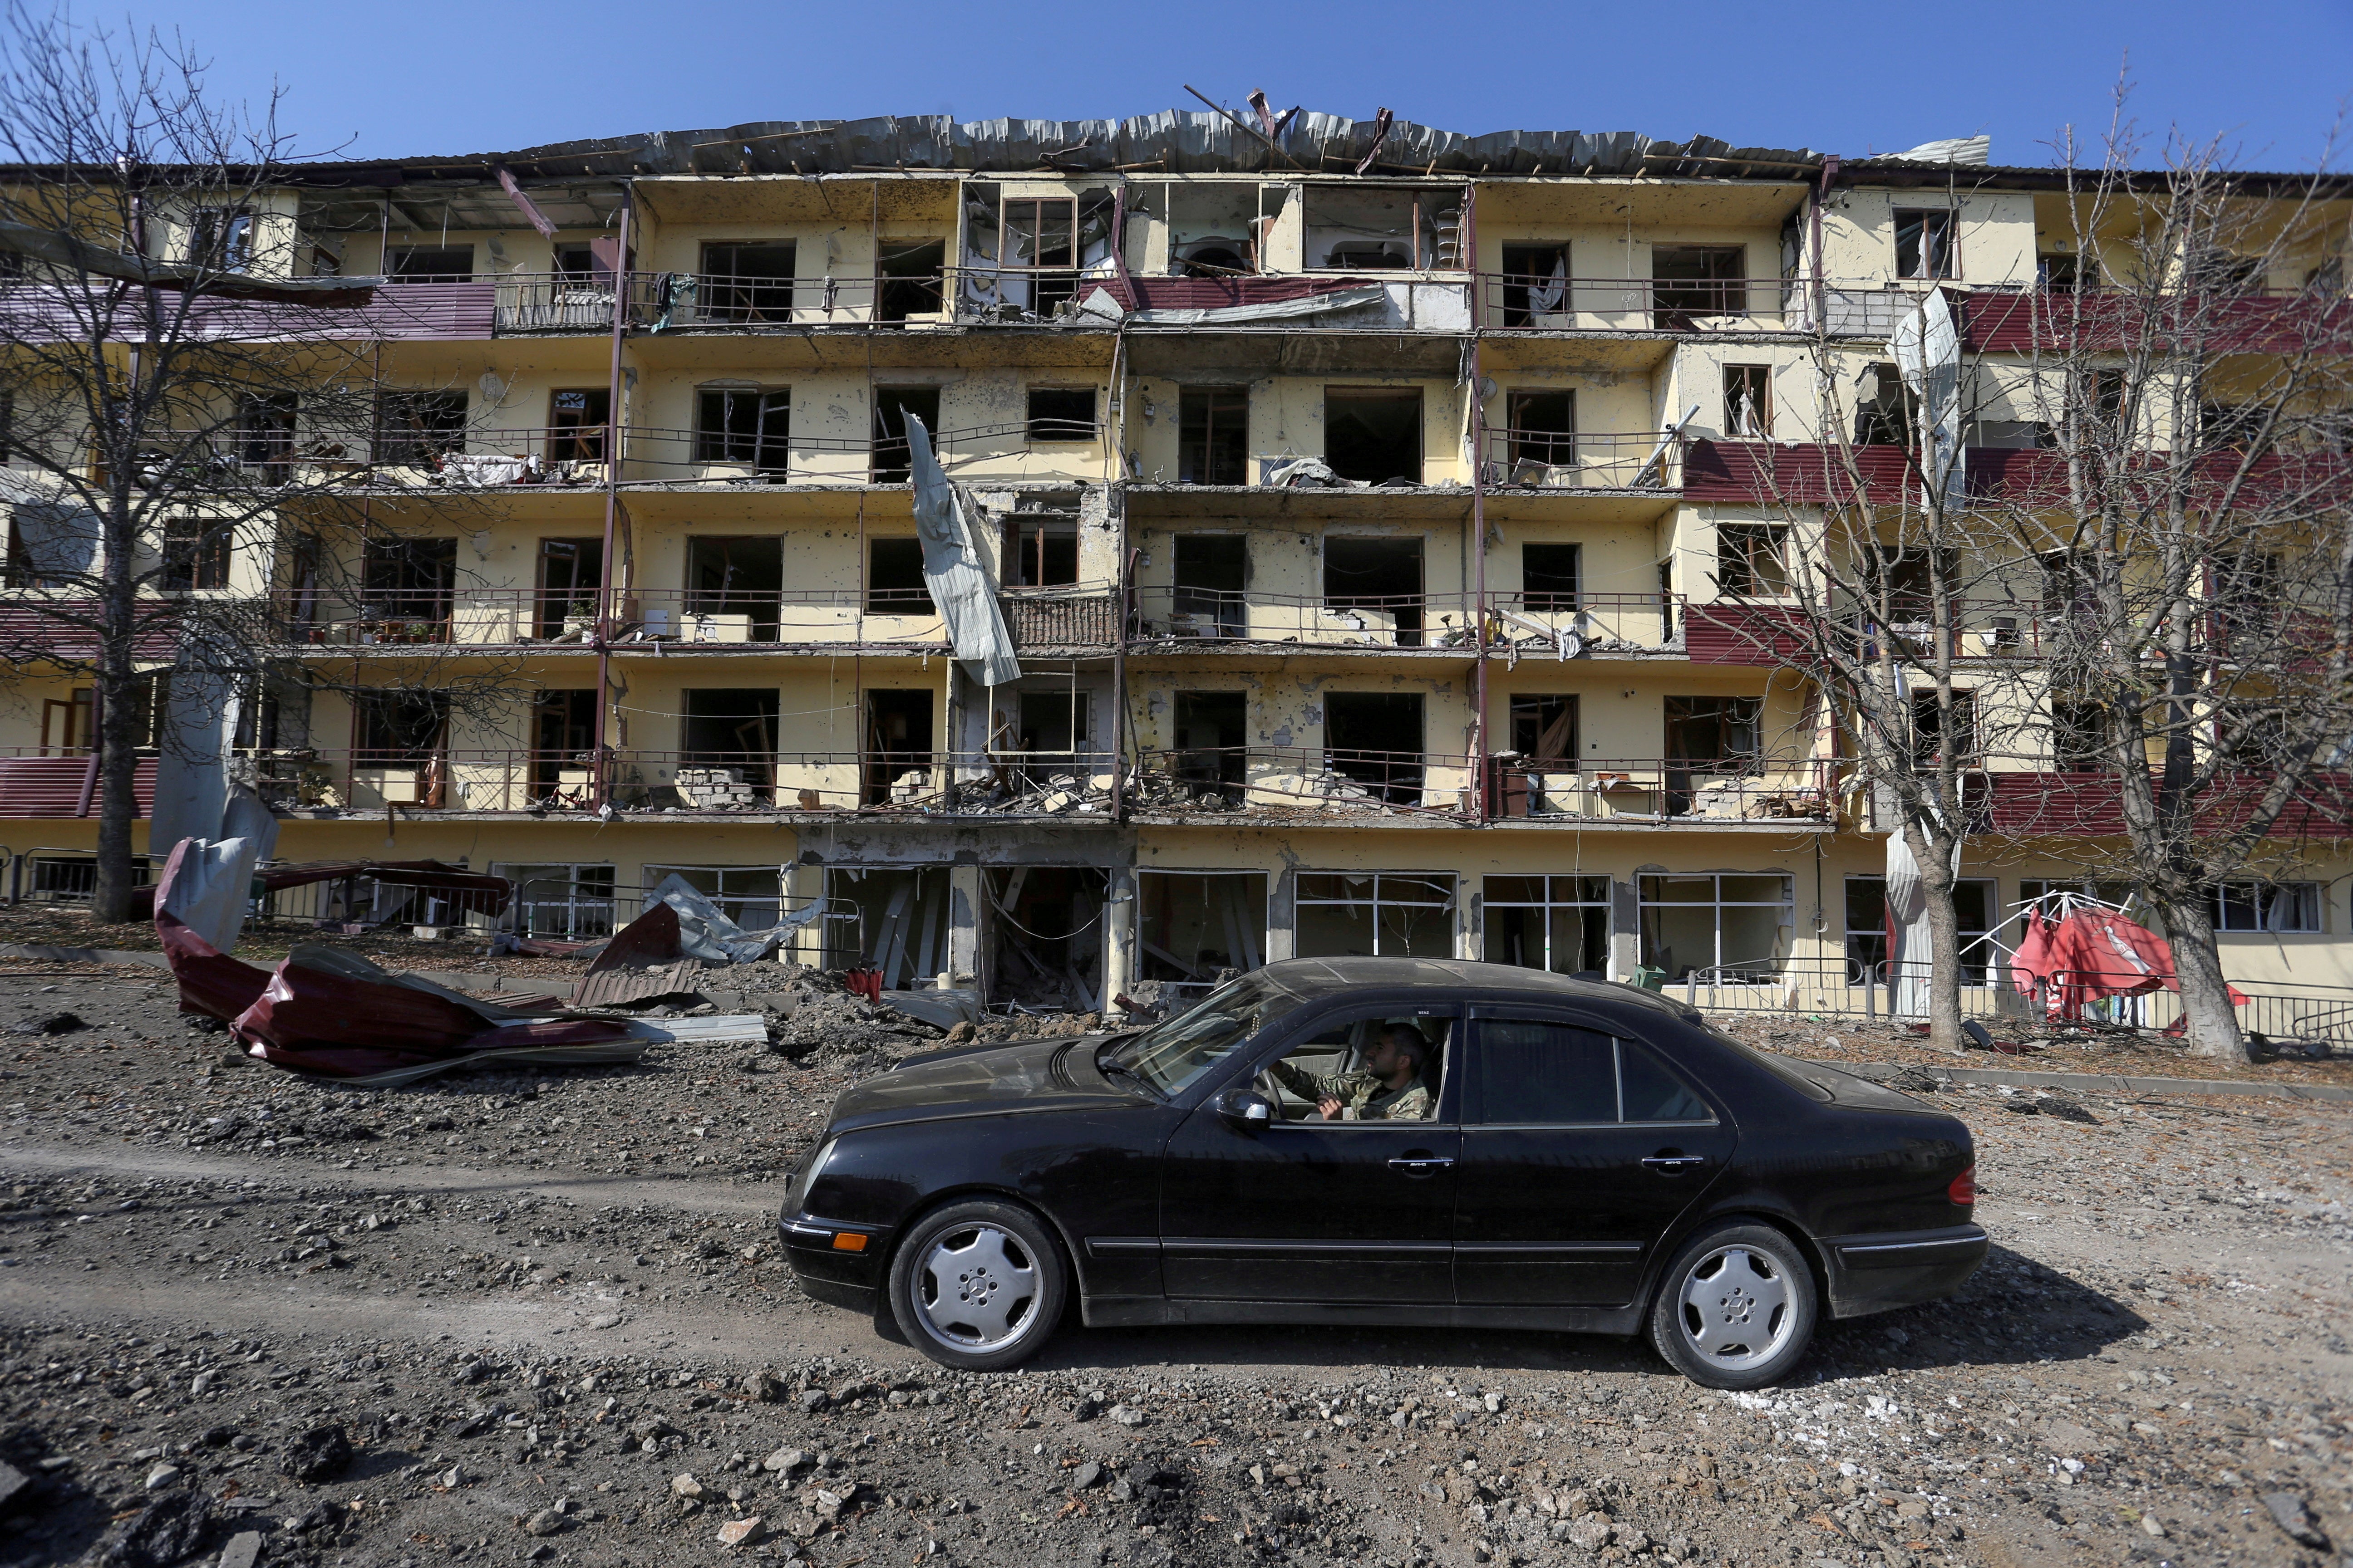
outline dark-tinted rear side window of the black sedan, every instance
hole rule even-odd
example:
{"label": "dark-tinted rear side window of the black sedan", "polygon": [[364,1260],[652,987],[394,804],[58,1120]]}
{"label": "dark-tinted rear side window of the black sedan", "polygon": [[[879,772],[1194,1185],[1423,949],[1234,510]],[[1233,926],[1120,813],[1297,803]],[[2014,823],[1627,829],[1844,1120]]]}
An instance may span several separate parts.
{"label": "dark-tinted rear side window of the black sedan", "polygon": [[1475,1074],[1478,1114],[1487,1124],[1715,1119],[1708,1103],[1647,1046],[1569,1023],[1482,1020]]}

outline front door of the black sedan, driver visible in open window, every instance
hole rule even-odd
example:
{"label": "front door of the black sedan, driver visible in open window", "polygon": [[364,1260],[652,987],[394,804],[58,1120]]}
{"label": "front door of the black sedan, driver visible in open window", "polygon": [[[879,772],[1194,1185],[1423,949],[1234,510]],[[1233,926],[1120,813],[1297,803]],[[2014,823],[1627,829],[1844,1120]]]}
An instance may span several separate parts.
{"label": "front door of the black sedan, driver visible in open window", "polygon": [[[1252,1056],[1228,1088],[1249,1088],[1275,1060],[1339,1072],[1367,1025],[1412,1020],[1438,1037],[1438,1114],[1426,1121],[1289,1117],[1240,1131],[1214,1095],[1167,1143],[1160,1178],[1160,1258],[1172,1298],[1252,1302],[1454,1300],[1452,1110],[1454,1006],[1362,1004],[1327,1011]],[[1426,1074],[1431,1067],[1424,1070]],[[1261,1079],[1264,1081],[1264,1079]]]}

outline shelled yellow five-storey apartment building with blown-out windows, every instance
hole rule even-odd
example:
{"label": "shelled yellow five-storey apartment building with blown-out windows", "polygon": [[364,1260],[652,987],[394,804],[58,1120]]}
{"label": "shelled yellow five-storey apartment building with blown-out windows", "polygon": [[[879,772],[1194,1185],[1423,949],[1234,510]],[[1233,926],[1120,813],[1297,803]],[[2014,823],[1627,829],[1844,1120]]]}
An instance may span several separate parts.
{"label": "shelled yellow five-storey apartment building with blown-out windows", "polygon": [[[238,759],[278,853],[496,872],[558,940],[680,875],[814,910],[800,961],[1073,1011],[1315,954],[1885,957],[1835,724],[1706,611],[1786,571],[1727,451],[1873,440],[1817,348],[1868,367],[1901,301],[2033,289],[2066,233],[1981,143],[1386,110],[767,122],[273,200],[273,266],[381,280],[393,383],[351,588],[228,574],[282,607]],[[311,461],[287,421],[266,456]],[[435,696],[468,663],[504,717]],[[16,766],[80,778],[71,679],[7,703]],[[0,813],[66,893],[87,795],[38,771]],[[1969,870],[1977,983],[2059,875]]]}

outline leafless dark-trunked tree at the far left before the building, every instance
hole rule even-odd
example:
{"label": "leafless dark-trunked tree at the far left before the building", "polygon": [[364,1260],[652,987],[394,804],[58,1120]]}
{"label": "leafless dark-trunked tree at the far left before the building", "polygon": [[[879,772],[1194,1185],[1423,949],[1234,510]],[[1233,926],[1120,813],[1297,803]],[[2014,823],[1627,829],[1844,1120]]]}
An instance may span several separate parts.
{"label": "leafless dark-trunked tree at the far left before the building", "polygon": [[275,99],[209,101],[153,33],[21,0],[0,26],[0,658],[92,682],[94,912],[115,922],[158,672],[249,686],[289,639],[282,590],[334,597],[365,571],[355,541],[386,534],[372,463],[431,461],[449,433],[400,428],[381,395],[369,280],[308,275]]}

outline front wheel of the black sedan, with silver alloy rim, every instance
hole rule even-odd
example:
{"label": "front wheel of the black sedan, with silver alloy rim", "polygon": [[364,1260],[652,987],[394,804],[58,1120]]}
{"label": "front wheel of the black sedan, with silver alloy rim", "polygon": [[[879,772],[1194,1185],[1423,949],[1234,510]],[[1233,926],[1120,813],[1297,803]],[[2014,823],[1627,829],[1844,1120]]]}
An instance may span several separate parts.
{"label": "front wheel of the black sedan, with silver alloy rim", "polygon": [[967,1199],[906,1234],[889,1265],[889,1309],[932,1361],[995,1373],[1054,1338],[1068,1279],[1045,1220],[1019,1204]]}

